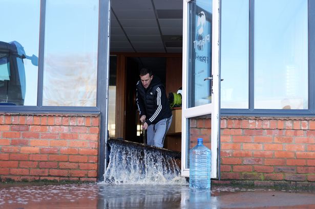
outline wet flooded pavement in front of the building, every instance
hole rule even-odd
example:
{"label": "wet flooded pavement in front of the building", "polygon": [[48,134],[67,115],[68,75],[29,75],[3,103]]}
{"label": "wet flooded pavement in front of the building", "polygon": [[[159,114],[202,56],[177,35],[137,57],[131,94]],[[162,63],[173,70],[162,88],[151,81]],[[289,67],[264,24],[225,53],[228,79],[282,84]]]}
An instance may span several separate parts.
{"label": "wet flooded pavement in front of the building", "polygon": [[0,184],[0,208],[315,208],[315,193],[188,185]]}

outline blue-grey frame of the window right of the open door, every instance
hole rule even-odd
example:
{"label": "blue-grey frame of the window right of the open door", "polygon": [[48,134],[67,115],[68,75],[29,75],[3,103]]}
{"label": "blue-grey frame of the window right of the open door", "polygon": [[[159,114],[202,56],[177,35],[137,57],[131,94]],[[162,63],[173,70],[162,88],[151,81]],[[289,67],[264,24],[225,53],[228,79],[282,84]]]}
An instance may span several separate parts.
{"label": "blue-grey frame of the window right of the open door", "polygon": [[[254,108],[254,17],[255,0],[249,0],[249,89],[248,109],[221,108],[221,115],[255,115],[255,116],[314,116],[315,114],[315,2],[308,0],[308,109],[255,109]],[[272,5],[270,5],[272,6]],[[221,53],[221,50],[220,50]],[[224,78],[222,78],[224,79]],[[224,81],[222,81],[224,82]]]}

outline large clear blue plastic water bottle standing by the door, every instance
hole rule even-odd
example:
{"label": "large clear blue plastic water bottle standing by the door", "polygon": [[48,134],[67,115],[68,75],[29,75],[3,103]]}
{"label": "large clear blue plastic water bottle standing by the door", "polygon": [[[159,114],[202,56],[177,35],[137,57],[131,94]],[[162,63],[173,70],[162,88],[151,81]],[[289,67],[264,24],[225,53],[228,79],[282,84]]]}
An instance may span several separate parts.
{"label": "large clear blue plastic water bottle standing by the door", "polygon": [[202,143],[202,138],[198,138],[198,144],[190,150],[189,187],[210,189],[211,151]]}

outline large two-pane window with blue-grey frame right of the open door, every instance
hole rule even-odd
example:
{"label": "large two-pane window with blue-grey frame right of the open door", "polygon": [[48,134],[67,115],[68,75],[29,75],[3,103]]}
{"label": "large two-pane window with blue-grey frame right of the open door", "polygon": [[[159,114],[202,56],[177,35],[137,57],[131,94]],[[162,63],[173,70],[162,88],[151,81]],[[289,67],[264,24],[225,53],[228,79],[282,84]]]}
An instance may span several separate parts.
{"label": "large two-pane window with blue-grey frame right of the open door", "polygon": [[313,7],[307,0],[222,0],[222,113],[314,112]]}

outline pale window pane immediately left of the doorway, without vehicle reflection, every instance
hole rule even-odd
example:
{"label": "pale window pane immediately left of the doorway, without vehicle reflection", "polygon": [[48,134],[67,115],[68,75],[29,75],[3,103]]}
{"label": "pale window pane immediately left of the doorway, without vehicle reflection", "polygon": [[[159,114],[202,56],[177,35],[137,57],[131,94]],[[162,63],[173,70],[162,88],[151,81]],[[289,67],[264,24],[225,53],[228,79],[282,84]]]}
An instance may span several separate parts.
{"label": "pale window pane immediately left of the doorway, without vehicle reflection", "polygon": [[96,106],[98,0],[46,1],[44,106]]}

